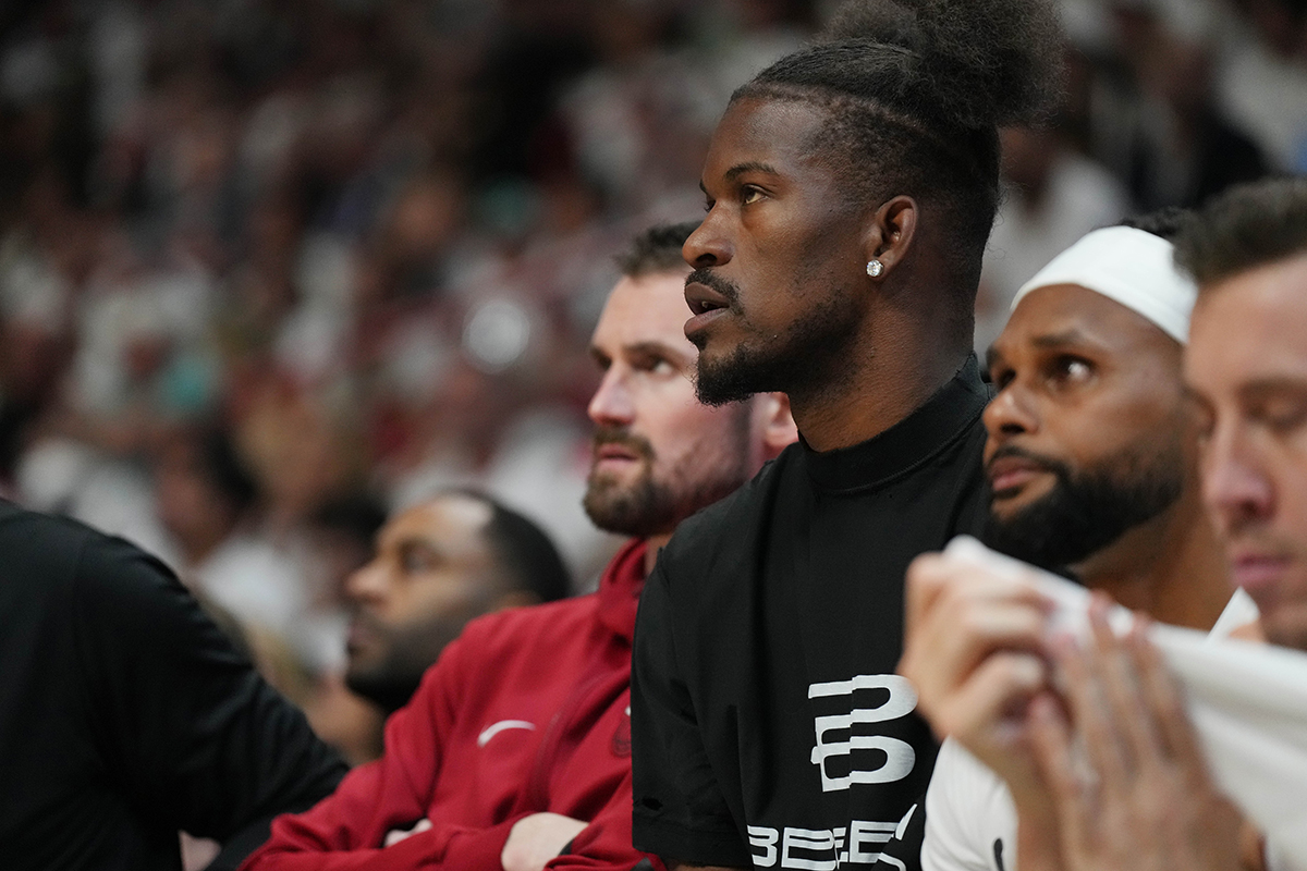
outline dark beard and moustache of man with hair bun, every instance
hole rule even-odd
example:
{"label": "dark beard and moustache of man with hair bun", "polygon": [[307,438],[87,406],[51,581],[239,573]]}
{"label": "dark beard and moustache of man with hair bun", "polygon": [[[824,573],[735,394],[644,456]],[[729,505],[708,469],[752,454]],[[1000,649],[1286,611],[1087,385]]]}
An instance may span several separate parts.
{"label": "dark beard and moustache of man with hair bun", "polygon": [[[712,287],[729,300],[732,315],[742,319],[735,283],[708,269],[695,269],[685,281]],[[850,308],[844,299],[833,295],[814,306],[802,320],[791,323],[783,334],[742,341],[720,359],[704,358],[701,353],[694,377],[699,402],[741,402],[767,390],[793,397],[831,387],[831,373],[843,371],[856,330]],[[695,338],[702,351],[702,337]]]}

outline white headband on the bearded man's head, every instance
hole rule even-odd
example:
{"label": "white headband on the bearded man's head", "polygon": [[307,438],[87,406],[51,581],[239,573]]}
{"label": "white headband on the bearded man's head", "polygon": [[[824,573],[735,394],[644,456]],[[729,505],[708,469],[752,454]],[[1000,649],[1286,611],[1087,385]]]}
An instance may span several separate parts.
{"label": "white headband on the bearded man's head", "polygon": [[1040,287],[1078,285],[1138,312],[1184,345],[1199,290],[1171,252],[1170,242],[1144,230],[1094,230],[1022,285],[1012,308]]}

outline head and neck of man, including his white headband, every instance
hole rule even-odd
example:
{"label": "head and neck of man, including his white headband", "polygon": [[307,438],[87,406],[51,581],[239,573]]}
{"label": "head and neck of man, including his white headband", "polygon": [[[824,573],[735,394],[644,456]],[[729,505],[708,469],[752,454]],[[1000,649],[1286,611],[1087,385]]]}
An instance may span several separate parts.
{"label": "head and neck of man, including his white headband", "polygon": [[1018,293],[989,349],[987,543],[1179,626],[1229,598],[1180,381],[1196,289],[1182,213],[1090,232]]}

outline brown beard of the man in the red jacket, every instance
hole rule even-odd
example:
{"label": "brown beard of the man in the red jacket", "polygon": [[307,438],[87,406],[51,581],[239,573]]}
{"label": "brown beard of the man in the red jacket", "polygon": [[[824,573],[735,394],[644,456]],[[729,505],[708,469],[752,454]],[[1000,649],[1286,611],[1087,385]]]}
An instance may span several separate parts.
{"label": "brown beard of the man in the red jacket", "polygon": [[682,520],[731,495],[749,479],[748,409],[740,409],[736,423],[721,462],[691,456],[693,467],[681,464],[667,470],[661,479],[654,477],[654,447],[647,439],[621,427],[600,427],[595,432],[595,451],[603,444],[621,444],[639,458],[640,473],[634,482],[622,483],[592,470],[586,482],[586,513],[609,533],[637,538],[670,533]]}

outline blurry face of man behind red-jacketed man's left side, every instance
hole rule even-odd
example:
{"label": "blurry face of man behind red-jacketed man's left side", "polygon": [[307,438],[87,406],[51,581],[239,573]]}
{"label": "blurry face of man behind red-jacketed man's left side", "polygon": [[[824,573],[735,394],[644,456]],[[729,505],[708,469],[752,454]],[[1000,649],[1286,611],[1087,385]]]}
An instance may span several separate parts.
{"label": "blurry face of man behind red-jacketed man's left side", "polygon": [[346,683],[395,709],[468,620],[501,595],[484,535],[491,509],[467,496],[442,496],[382,528],[376,556],[346,582],[353,607]]}

